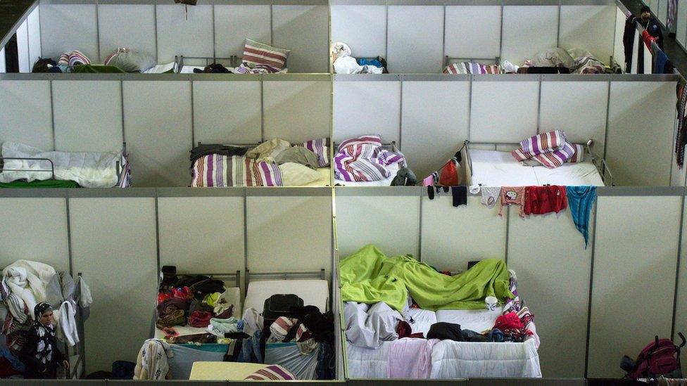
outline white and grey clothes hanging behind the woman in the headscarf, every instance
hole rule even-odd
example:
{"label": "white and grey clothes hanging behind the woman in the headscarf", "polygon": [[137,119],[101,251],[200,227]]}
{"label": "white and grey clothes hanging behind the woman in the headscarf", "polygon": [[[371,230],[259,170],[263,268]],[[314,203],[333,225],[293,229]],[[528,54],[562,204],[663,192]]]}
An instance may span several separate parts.
{"label": "white and grey clothes hanging behind the woman in the headscarf", "polygon": [[66,272],[30,260],[18,260],[5,267],[0,282],[0,335],[7,347],[0,350],[0,378],[22,373],[18,360],[27,331],[34,324],[34,307],[47,302],[54,309],[56,337],[69,346],[80,342],[77,309],[85,319],[93,302],[91,291],[79,276],[77,281]]}

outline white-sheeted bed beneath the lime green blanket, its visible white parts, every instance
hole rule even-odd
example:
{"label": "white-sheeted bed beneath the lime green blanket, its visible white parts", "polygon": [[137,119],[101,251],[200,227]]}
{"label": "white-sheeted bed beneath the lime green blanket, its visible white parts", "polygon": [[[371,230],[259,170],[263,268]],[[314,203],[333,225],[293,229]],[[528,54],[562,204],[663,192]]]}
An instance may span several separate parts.
{"label": "white-sheeted bed beneath the lime green blanket, its visible white parts", "polygon": [[[515,289],[515,273],[511,286]],[[520,303],[523,307],[524,304]],[[493,311],[410,309],[412,333],[427,334],[436,322],[458,323],[462,329],[482,331],[491,329],[504,309],[512,309],[514,302]],[[517,306],[519,307],[519,305]],[[538,336],[534,322],[528,328],[533,331],[527,340],[514,342],[455,342],[441,340],[431,348],[431,379],[455,378],[541,378],[537,353]],[[417,339],[417,338],[415,338]],[[346,345],[346,366],[350,378],[389,378],[389,348],[394,341],[382,342],[377,349]]]}

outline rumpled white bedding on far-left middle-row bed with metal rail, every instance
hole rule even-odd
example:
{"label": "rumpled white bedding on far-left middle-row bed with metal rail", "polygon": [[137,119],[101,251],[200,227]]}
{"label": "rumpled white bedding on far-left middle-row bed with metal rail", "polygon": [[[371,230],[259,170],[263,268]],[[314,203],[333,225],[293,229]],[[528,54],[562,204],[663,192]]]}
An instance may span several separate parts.
{"label": "rumpled white bedding on far-left middle-row bed with metal rail", "polygon": [[[43,151],[18,142],[2,144],[3,157],[47,158],[55,167],[55,179],[75,181],[84,188],[111,188],[117,185],[117,162],[121,154],[115,153],[65,153]],[[21,172],[0,173],[0,182],[25,179],[29,182],[53,178],[50,162],[44,160],[5,160],[4,169],[20,169]],[[34,170],[32,172],[32,170]]]}

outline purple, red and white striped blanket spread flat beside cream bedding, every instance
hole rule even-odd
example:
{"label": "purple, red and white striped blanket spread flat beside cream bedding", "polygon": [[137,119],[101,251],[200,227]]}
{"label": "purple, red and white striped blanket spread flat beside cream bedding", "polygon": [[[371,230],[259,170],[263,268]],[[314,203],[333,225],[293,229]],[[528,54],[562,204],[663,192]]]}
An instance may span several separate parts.
{"label": "purple, red and white striped blanket spread flat beside cream bedding", "polygon": [[282,173],[274,162],[240,155],[208,154],[194,162],[191,187],[282,186]]}

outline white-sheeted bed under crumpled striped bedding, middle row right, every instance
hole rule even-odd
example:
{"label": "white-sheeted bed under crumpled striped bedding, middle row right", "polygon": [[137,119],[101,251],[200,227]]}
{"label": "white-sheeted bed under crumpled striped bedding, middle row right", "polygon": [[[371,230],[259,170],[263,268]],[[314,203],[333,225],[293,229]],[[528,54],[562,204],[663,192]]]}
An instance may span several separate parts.
{"label": "white-sheeted bed under crumpled striped bedding, middle row right", "polygon": [[468,186],[611,186],[612,174],[605,160],[593,154],[593,141],[585,145],[585,160],[565,163],[555,169],[531,167],[517,162],[510,152],[481,150],[471,146],[513,146],[517,143],[470,143],[463,150]]}

